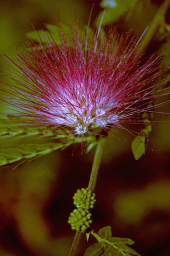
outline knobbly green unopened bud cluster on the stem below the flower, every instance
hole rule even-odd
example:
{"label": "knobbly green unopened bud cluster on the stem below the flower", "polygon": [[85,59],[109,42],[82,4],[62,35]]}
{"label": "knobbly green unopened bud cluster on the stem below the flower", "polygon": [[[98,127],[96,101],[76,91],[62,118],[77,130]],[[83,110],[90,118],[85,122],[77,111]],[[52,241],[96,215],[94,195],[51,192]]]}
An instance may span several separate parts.
{"label": "knobbly green unopened bud cluster on the stem below the flower", "polygon": [[93,208],[96,201],[95,194],[88,188],[81,188],[74,194],[73,200],[76,209],[70,213],[68,223],[71,225],[71,229],[85,232],[92,223],[89,210]]}

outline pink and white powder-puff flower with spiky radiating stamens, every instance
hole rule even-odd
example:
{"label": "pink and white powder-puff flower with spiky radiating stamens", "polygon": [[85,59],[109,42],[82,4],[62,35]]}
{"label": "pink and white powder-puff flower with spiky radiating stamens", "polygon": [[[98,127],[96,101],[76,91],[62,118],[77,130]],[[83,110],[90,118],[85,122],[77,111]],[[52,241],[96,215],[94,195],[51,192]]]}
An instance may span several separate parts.
{"label": "pink and white powder-puff flower with spiky radiating stamens", "polygon": [[122,123],[141,123],[141,113],[153,111],[148,103],[169,93],[157,89],[162,82],[152,82],[163,72],[161,57],[144,59],[131,31],[86,35],[75,24],[65,34],[59,29],[59,45],[44,35],[45,44],[40,38],[38,45],[28,42],[27,49],[15,52],[14,62],[9,60],[11,90],[3,94],[14,115],[29,125],[66,127],[78,136],[93,127],[122,128]]}

